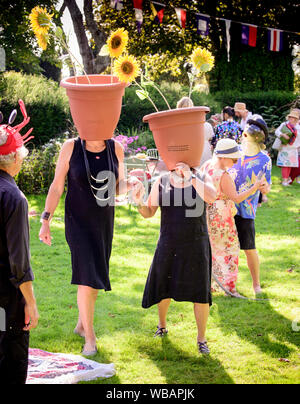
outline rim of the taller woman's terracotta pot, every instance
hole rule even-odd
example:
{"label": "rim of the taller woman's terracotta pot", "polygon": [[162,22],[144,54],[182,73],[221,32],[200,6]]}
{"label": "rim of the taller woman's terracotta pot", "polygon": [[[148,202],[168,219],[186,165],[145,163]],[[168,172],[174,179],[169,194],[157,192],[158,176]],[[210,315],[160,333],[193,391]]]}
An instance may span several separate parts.
{"label": "rim of the taller woman's terracotta pot", "polygon": [[[71,76],[67,77],[61,80],[60,85],[66,89],[69,90],[87,90],[87,91],[98,91],[100,88],[102,91],[105,90],[112,90],[113,88],[121,88],[121,87],[127,87],[127,84],[124,82],[119,81],[117,76],[111,76],[111,75],[105,75],[105,74],[88,74],[89,79],[93,81],[93,78],[101,78],[103,80],[107,80],[105,83],[99,83],[99,82],[92,82],[89,83],[88,79],[85,75],[81,76]],[[113,78],[113,82],[111,83],[111,77]],[[86,81],[85,83],[76,83],[76,79],[82,81]]]}

